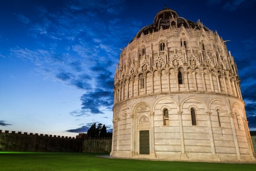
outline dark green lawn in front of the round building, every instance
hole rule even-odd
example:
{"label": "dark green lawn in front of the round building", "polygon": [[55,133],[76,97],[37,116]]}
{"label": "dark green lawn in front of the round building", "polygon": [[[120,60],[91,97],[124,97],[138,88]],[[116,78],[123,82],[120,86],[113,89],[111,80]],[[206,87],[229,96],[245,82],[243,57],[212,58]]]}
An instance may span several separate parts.
{"label": "dark green lawn in front of the round building", "polygon": [[1,153],[0,170],[256,171],[256,164],[143,161],[96,157],[100,153]]}

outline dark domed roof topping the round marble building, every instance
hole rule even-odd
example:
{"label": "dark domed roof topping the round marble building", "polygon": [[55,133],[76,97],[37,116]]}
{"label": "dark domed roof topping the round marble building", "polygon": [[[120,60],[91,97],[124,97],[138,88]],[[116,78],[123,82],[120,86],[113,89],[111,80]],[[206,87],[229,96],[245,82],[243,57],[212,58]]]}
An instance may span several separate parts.
{"label": "dark domed roof topping the round marble building", "polygon": [[[141,28],[134,38],[139,38],[142,33],[144,35],[148,35],[149,33],[157,32],[160,30],[161,27],[164,30],[168,29],[172,25],[174,25],[176,28],[180,28],[183,25],[185,28],[195,28],[197,30],[200,30],[200,28],[202,27],[199,26],[196,22],[186,20],[185,18],[180,17],[176,11],[165,6],[165,8],[163,8],[156,14],[154,22],[148,26]],[[208,31],[206,27],[204,27],[204,29]]]}

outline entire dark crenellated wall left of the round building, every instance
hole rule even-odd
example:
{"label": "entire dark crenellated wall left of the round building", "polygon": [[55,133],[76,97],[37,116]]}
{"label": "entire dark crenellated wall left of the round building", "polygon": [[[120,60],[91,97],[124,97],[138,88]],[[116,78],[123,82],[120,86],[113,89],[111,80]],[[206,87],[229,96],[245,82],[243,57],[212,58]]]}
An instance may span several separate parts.
{"label": "entire dark crenellated wall left of the round building", "polygon": [[0,151],[24,152],[89,152],[110,153],[111,138],[75,139],[67,136],[52,136],[0,130]]}

